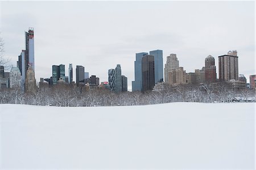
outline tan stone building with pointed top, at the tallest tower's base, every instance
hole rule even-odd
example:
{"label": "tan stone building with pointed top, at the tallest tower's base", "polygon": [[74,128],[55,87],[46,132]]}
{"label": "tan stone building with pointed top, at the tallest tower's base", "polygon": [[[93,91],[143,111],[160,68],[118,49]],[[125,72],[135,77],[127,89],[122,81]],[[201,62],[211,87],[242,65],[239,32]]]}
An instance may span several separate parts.
{"label": "tan stone building with pointed top, at the tallest tower's base", "polygon": [[26,76],[26,92],[35,92],[36,91],[36,80],[35,80],[35,72],[31,65],[29,65],[27,69]]}

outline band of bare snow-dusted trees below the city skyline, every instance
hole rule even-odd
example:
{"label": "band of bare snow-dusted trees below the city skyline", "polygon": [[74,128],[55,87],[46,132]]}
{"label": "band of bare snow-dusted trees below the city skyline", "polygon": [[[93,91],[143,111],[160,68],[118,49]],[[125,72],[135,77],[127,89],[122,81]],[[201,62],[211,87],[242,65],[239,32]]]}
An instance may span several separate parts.
{"label": "band of bare snow-dusted trees below the city skyline", "polygon": [[1,89],[1,103],[50,106],[134,106],[170,102],[255,102],[255,90],[234,89],[225,82],[200,85],[159,86],[148,92],[114,93],[108,89],[60,84],[24,93],[17,89]]}

